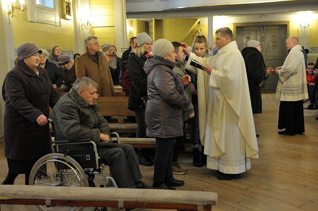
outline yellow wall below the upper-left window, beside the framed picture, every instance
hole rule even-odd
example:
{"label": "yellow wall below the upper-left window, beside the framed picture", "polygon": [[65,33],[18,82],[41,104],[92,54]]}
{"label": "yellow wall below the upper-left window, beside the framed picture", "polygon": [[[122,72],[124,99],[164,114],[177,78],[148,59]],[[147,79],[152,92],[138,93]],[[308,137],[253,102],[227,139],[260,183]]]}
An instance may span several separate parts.
{"label": "yellow wall below the upper-left window, beside the framed picture", "polygon": [[[60,1],[60,7],[62,2]],[[59,45],[62,51],[73,51],[73,20],[61,19],[61,26],[28,21],[28,10],[24,11],[22,18],[11,18],[14,47],[29,42],[35,43],[39,48],[52,49]]]}

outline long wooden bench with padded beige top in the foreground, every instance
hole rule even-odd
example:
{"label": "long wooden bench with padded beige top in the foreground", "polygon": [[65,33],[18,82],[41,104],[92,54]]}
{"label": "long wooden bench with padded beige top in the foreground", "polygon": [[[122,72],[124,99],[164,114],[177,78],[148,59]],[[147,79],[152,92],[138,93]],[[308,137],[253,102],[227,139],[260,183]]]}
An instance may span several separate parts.
{"label": "long wooden bench with padded beige top in the foreground", "polygon": [[[205,191],[1,185],[0,204],[211,210],[218,194]],[[53,207],[54,208],[54,207]]]}

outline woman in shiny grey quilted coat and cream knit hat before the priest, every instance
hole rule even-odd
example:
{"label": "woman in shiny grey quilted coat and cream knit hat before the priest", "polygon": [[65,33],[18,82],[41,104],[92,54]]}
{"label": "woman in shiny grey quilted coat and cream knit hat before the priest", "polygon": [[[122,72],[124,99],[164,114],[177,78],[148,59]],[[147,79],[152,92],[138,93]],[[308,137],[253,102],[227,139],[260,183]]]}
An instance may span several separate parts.
{"label": "woman in shiny grey quilted coat and cream knit hat before the priest", "polygon": [[156,138],[156,156],[154,160],[153,187],[175,189],[184,185],[172,175],[172,154],[175,137],[183,135],[182,109],[190,105],[190,99],[184,97],[184,85],[191,78],[181,79],[172,70],[176,61],[175,49],[171,42],[159,39],[152,45],[153,58],[145,63],[148,74],[148,102],[145,121],[147,136]]}

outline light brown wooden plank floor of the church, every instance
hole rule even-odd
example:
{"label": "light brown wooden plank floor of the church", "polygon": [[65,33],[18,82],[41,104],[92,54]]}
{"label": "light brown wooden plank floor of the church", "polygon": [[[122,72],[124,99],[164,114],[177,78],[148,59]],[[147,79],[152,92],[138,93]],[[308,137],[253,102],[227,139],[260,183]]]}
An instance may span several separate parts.
{"label": "light brown wooden plank floor of the church", "polygon": [[[192,165],[190,143],[179,153],[179,162],[188,169],[174,175],[185,181],[179,190],[202,190],[218,193],[214,210],[318,210],[318,110],[304,110],[305,134],[277,134],[278,105],[273,94],[263,94],[263,114],[254,115],[259,159],[240,179],[220,181],[215,171]],[[307,107],[308,103],[305,104]],[[0,145],[0,180],[7,174],[7,163]],[[152,183],[153,167],[141,166],[144,181]],[[19,175],[16,184],[23,184]],[[1,188],[1,187],[0,187]]]}

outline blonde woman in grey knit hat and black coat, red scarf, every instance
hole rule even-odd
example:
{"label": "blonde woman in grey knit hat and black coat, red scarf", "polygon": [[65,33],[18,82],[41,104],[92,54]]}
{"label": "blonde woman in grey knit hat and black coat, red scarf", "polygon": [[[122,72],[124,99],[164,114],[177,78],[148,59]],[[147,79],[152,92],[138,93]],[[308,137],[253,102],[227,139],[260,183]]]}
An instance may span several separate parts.
{"label": "blonde woman in grey knit hat and black coat, red scarf", "polygon": [[[144,138],[146,136],[146,122],[145,122],[145,103],[147,101],[147,74],[143,67],[145,62],[152,57],[151,47],[152,39],[143,32],[137,35],[137,47],[130,52],[128,58],[128,70],[133,81],[130,89],[128,109],[135,111],[137,121],[137,138]],[[152,160],[148,154],[144,153],[144,149],[138,149],[139,163],[143,166],[152,166]]]}

